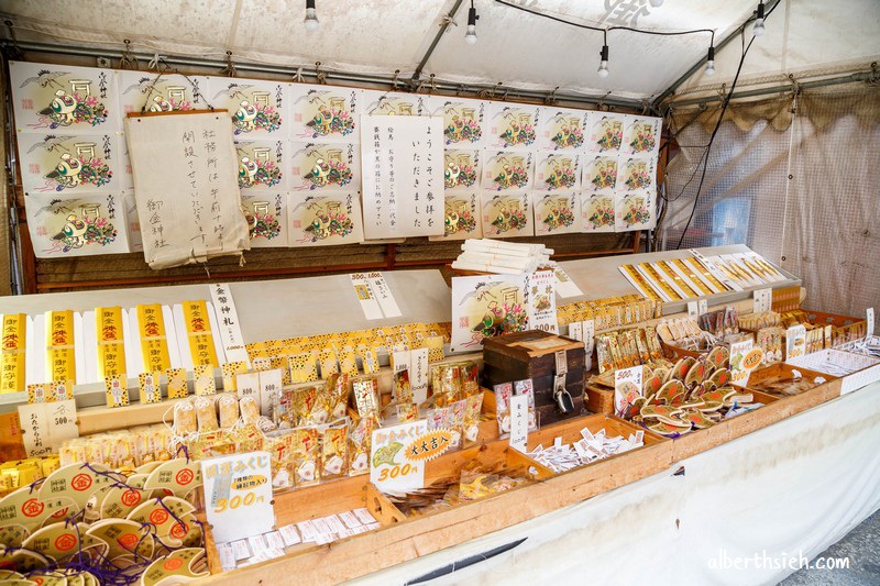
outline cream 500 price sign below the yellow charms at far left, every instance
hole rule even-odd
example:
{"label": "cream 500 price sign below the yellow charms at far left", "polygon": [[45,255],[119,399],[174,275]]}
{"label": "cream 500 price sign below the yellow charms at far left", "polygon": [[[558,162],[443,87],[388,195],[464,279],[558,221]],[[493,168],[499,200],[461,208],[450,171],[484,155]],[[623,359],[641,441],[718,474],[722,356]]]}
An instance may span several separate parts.
{"label": "cream 500 price sign below the yellow charms at far left", "polygon": [[30,457],[57,452],[65,440],[79,438],[74,399],[20,405],[19,420],[24,450]]}

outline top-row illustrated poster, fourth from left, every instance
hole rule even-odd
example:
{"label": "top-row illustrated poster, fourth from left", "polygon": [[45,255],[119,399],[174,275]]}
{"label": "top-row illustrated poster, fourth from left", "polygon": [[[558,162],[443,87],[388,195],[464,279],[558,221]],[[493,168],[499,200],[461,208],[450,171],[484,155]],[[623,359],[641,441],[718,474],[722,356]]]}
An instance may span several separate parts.
{"label": "top-row illustrated poster, fourth from left", "polygon": [[292,86],[290,139],[356,143],[360,97],[356,89]]}

